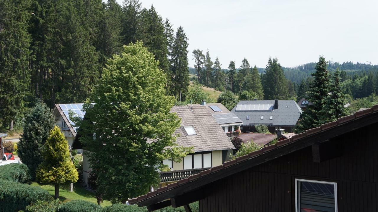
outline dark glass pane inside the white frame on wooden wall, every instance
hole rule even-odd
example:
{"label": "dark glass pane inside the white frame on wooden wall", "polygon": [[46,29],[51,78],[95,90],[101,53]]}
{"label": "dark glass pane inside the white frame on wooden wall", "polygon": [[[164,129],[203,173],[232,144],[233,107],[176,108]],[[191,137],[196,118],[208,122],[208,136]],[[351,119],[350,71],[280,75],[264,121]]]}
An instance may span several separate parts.
{"label": "dark glass pane inside the white frame on wooden wall", "polygon": [[301,212],[334,212],[335,185],[326,183],[299,183],[299,207]]}

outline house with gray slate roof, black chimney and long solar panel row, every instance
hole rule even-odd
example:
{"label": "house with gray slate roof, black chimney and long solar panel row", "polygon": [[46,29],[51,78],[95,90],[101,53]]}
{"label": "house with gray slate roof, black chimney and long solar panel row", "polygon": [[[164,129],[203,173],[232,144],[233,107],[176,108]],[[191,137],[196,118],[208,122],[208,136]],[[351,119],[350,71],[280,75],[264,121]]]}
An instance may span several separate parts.
{"label": "house with gray slate roof, black chimney and long solar panel row", "polygon": [[231,110],[243,124],[241,132],[256,131],[258,124],[266,125],[271,133],[276,129],[293,132],[302,110],[294,100],[248,100],[239,101]]}

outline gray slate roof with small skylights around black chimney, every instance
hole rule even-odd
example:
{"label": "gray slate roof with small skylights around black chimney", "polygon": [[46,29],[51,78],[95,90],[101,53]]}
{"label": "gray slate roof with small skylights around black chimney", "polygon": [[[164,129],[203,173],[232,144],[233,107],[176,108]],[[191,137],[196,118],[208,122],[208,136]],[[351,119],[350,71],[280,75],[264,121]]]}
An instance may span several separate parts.
{"label": "gray slate roof with small skylights around black chimney", "polygon": [[[274,100],[248,100],[239,101],[238,104],[274,105]],[[243,121],[242,126],[254,126],[256,124],[265,124],[267,126],[294,126],[302,113],[302,109],[294,100],[278,100],[278,109],[266,111],[236,111],[236,107],[237,105],[231,112]],[[245,107],[242,106],[241,108]],[[246,119],[247,115],[249,116],[249,120]],[[264,116],[264,119],[261,119],[261,116]],[[273,116],[272,120],[269,119],[270,116]]]}

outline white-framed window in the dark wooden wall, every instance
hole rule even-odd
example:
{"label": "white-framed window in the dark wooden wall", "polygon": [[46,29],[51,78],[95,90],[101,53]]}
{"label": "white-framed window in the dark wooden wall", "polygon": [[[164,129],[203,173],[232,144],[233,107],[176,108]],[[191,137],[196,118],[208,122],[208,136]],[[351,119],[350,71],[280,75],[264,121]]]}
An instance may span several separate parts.
{"label": "white-framed window in the dark wooden wall", "polygon": [[296,212],[337,212],[337,186],[333,182],[295,179]]}

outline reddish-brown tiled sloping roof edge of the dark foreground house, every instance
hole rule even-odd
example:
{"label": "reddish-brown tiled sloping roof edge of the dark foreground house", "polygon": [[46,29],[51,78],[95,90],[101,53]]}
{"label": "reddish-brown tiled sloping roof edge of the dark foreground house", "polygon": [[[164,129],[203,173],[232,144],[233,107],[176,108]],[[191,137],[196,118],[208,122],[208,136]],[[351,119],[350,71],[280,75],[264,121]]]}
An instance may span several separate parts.
{"label": "reddish-brown tiled sloping roof edge of the dark foreground house", "polygon": [[[165,187],[161,187],[161,188],[157,189],[156,191],[147,193],[146,195],[130,199],[129,204],[135,204],[135,203],[145,201],[149,198],[154,198],[156,195],[158,195],[158,194],[160,195],[162,193],[169,192],[170,190],[174,190],[176,187],[178,187],[177,189],[180,189],[180,186],[182,186],[184,184],[191,183],[192,181],[198,180],[198,179],[203,178],[203,177],[208,177],[207,175],[212,175],[215,172],[225,171],[227,168],[239,165],[240,163],[243,163],[245,161],[251,161],[251,160],[255,160],[255,159],[258,160],[259,157],[264,155],[265,153],[270,153],[271,151],[279,151],[279,149],[285,147],[286,145],[290,145],[290,144],[299,145],[299,144],[301,144],[301,142],[299,142],[299,141],[304,141],[304,139],[306,137],[310,137],[310,136],[313,136],[313,135],[315,136],[315,135],[317,135],[321,132],[326,132],[330,129],[336,128],[339,125],[342,125],[342,124],[345,124],[345,123],[350,123],[354,120],[358,120],[361,117],[365,117],[365,116],[368,116],[368,115],[373,114],[373,113],[376,114],[377,112],[378,112],[378,104],[373,106],[372,108],[369,108],[369,109],[366,109],[366,110],[363,110],[363,111],[358,111],[358,112],[355,112],[352,115],[347,115],[345,117],[338,118],[338,120],[336,120],[336,121],[332,121],[332,122],[329,122],[329,123],[322,124],[320,127],[308,129],[305,132],[302,132],[300,134],[296,134],[291,138],[281,140],[281,141],[277,141],[277,143],[275,143],[275,144],[265,146],[260,150],[249,153],[248,155],[243,155],[241,157],[236,158],[235,160],[231,160],[231,161],[228,161],[226,163],[223,163],[220,166],[212,167],[211,169],[208,169],[206,171],[202,171],[199,174],[192,175],[192,176],[185,178],[183,180],[180,180],[176,183],[172,183],[172,184],[169,184]],[[374,120],[376,120],[376,118]],[[166,197],[164,197],[164,199],[166,199]]]}

